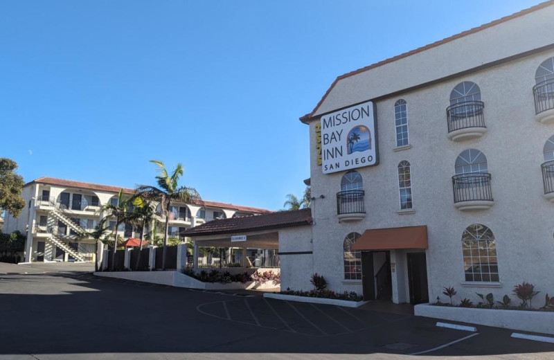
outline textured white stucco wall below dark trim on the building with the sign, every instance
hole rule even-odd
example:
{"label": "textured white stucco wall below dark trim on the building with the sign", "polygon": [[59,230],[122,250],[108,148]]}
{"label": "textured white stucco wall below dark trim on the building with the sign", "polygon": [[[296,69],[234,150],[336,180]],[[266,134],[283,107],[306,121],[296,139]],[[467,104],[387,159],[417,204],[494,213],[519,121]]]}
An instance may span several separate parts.
{"label": "textured white stucco wall below dark trim on the building with the sign", "polygon": [[[492,46],[488,51],[494,53],[497,49]],[[483,51],[484,57],[488,51]],[[316,165],[316,121],[312,121],[311,183],[312,195],[316,197],[312,206],[314,271],[326,276],[332,289],[354,289],[361,293],[361,285],[343,281],[344,237],[352,231],[363,233],[368,228],[427,225],[431,299],[442,294],[443,287],[447,286],[456,287],[458,301],[464,297],[477,300],[476,291],[492,292],[501,298],[511,294],[512,287],[523,281],[532,282],[545,293],[553,291],[554,279],[544,274],[554,270],[554,204],[542,196],[540,165],[544,161],[542,148],[554,135],[554,125],[542,125],[534,120],[532,91],[537,66],[552,56],[554,51],[547,51],[377,102],[380,164],[357,169],[364,178],[367,212],[366,218],[359,222],[339,223],[336,218],[335,195],[340,190],[343,172],[325,175]],[[413,66],[422,66],[424,71],[434,63],[417,62]],[[476,82],[481,88],[488,132],[482,138],[456,143],[447,138],[445,109],[452,89],[465,80]],[[365,86],[379,89],[375,84],[381,86],[381,82],[368,82]],[[412,147],[394,152],[394,103],[399,98],[408,103]],[[470,148],[481,150],[488,159],[494,197],[490,210],[463,212],[454,208],[451,179],[454,161],[458,154]],[[412,215],[397,214],[397,164],[402,160],[411,163],[415,208]],[[324,199],[319,199],[320,195]],[[463,285],[461,236],[471,224],[488,226],[497,239],[499,288]]]}

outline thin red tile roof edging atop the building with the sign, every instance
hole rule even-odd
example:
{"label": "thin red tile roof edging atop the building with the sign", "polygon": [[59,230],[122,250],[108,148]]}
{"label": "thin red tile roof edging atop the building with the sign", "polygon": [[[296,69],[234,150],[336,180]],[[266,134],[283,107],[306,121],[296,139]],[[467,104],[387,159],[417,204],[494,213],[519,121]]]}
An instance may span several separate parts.
{"label": "thin red tile roof edging atop the building with the sign", "polygon": [[505,21],[508,21],[508,20],[511,20],[511,19],[515,19],[516,17],[520,17],[520,16],[523,16],[523,15],[527,15],[528,13],[530,12],[533,12],[533,11],[537,11],[537,10],[540,10],[542,8],[546,8],[546,6],[551,6],[551,5],[554,5],[554,0],[549,0],[549,1],[544,1],[543,3],[539,3],[535,6],[531,6],[530,8],[526,8],[524,10],[521,10],[519,12],[515,12],[514,14],[512,15],[508,15],[508,16],[505,16],[505,17],[501,17],[500,19],[497,19],[497,20],[494,20],[494,21],[491,21],[487,24],[483,24],[481,26],[477,26],[476,28],[471,28],[470,30],[465,30],[461,33],[458,33],[456,35],[452,35],[450,37],[446,37],[445,39],[442,39],[442,40],[439,40],[437,42],[434,42],[434,43],[431,43],[431,44],[427,44],[425,46],[422,46],[420,48],[415,48],[414,50],[411,50],[411,51],[408,51],[407,53],[403,53],[403,54],[400,54],[400,55],[396,55],[395,57],[390,57],[386,60],[382,60],[380,62],[376,62],[375,64],[371,64],[371,65],[368,65],[368,66],[364,66],[363,68],[361,69],[357,69],[355,71],[350,71],[350,73],[346,73],[346,74],[343,74],[343,75],[340,75],[338,76],[334,82],[331,84],[331,86],[329,87],[329,89],[327,89],[327,91],[325,91],[325,93],[323,94],[323,97],[321,98],[321,100],[319,100],[319,102],[317,103],[316,107],[314,107],[314,109],[312,110],[312,112],[308,113],[308,114],[305,114],[304,116],[302,116],[300,118],[300,120],[305,123],[307,120],[310,120],[310,118],[312,118],[312,116],[314,116],[314,114],[316,113],[317,109],[319,109],[319,107],[321,106],[321,104],[323,104],[323,101],[325,100],[325,98],[327,98],[327,96],[329,95],[329,93],[331,92],[331,90],[334,88],[334,85],[337,84],[337,82],[339,82],[339,80],[342,80],[344,78],[348,78],[349,76],[352,76],[352,75],[356,75],[356,74],[359,74],[359,73],[363,73],[364,71],[368,71],[370,69],[374,69],[378,66],[382,66],[384,64],[388,64],[389,62],[394,62],[396,60],[400,60],[400,59],[403,59],[404,57],[409,57],[411,55],[414,55],[414,54],[417,54],[417,53],[421,53],[422,51],[426,51],[426,50],[429,50],[429,48],[435,48],[436,46],[439,46],[439,45],[442,45],[442,44],[445,44],[447,42],[452,42],[453,40],[456,40],[456,39],[459,39],[461,37],[464,37],[464,36],[467,36],[467,35],[471,35],[471,34],[474,34],[474,33],[477,33],[481,30],[485,30],[486,28],[490,28],[492,26],[495,26],[495,25],[498,25],[498,24],[501,24]]}

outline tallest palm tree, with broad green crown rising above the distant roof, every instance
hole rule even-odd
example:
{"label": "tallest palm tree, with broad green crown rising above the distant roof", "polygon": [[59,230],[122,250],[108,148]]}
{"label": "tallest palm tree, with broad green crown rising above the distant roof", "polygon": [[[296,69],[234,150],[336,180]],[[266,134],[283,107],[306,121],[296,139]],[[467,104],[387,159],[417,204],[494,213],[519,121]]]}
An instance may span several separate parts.
{"label": "tallest palm tree, with broad green crown rising above the distant roof", "polygon": [[166,269],[166,255],[168,251],[168,222],[170,206],[172,201],[182,201],[187,204],[198,204],[202,201],[200,195],[194,188],[179,186],[179,178],[183,176],[183,165],[177,164],[171,175],[166,170],[166,165],[158,160],[150,160],[151,163],[158,165],[159,175],[156,177],[158,186],[139,185],[136,190],[139,196],[149,201],[157,201],[161,205],[161,211],[166,217],[166,231],[163,235],[163,260],[161,269]]}

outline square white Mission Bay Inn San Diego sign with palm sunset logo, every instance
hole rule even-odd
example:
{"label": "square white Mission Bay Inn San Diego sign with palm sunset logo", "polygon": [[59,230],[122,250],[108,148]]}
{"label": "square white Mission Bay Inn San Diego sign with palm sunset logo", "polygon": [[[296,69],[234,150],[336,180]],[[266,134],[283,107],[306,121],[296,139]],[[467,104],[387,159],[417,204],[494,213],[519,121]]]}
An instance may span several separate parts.
{"label": "square white Mission Bay Inn San Diego sign with palm sunset logo", "polygon": [[323,174],[379,163],[373,102],[321,116]]}

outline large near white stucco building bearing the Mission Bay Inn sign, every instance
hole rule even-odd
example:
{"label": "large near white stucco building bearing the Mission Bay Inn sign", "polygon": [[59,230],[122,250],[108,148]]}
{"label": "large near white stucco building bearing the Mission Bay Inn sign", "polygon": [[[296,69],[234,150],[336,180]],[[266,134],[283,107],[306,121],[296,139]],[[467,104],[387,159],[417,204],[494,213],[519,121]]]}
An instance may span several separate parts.
{"label": "large near white stucco building bearing the Mission Bay Inn sign", "polygon": [[283,244],[281,287],[553,293],[553,19],[547,1],[339,76],[301,118],[313,224]]}

